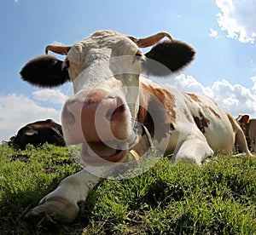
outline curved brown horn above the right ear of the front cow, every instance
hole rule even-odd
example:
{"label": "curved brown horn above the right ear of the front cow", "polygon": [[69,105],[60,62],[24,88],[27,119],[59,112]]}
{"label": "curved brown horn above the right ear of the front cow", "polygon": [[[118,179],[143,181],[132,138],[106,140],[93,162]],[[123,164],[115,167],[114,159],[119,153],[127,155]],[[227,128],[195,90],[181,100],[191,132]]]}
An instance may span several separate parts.
{"label": "curved brown horn above the right ear of the front cow", "polygon": [[150,46],[154,45],[155,43],[158,43],[164,37],[168,37],[171,41],[173,40],[171,35],[167,32],[159,32],[150,37],[144,37],[144,38],[136,38],[136,37],[129,36],[129,38],[134,43],[137,43],[137,46],[139,48],[150,47]]}

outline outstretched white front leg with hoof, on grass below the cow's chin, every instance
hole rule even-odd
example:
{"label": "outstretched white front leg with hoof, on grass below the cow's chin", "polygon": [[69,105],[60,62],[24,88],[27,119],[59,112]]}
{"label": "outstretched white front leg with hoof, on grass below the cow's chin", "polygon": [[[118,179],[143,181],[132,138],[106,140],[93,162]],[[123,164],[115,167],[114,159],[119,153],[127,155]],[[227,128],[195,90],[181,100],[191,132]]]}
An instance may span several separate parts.
{"label": "outstretched white front leg with hoof, on grass below the cow's chin", "polygon": [[[83,169],[61,181],[55,191],[46,195],[38,204],[26,214],[26,219],[32,221],[49,215],[53,220],[61,223],[71,223],[79,213],[79,201],[84,201],[90,189],[100,181],[104,168],[96,168],[96,175],[89,172],[93,169]],[[100,172],[99,172],[100,171]]]}

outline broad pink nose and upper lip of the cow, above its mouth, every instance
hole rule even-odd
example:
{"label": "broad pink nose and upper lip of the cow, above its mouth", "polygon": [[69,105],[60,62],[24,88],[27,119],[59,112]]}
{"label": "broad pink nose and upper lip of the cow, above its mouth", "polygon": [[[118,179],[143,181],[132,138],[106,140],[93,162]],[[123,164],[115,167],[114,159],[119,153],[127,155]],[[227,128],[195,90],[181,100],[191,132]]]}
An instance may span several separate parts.
{"label": "broad pink nose and upper lip of the cow, above its mouth", "polygon": [[61,122],[67,144],[130,137],[129,107],[118,96],[90,94],[67,100]]}

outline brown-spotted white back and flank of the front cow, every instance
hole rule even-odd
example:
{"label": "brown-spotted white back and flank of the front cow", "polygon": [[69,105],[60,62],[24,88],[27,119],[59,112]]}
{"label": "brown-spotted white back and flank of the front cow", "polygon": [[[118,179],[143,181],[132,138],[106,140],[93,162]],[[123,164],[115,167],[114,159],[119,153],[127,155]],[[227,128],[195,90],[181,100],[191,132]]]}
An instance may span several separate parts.
{"label": "brown-spotted white back and flank of the front cow", "polygon": [[[153,92],[161,89],[161,96],[169,100],[169,105],[165,104],[165,108],[173,129],[169,131],[171,134],[166,152],[175,152],[177,146],[189,135],[201,139],[202,142],[205,139],[206,145],[208,144],[213,152],[234,150],[236,130],[240,127],[236,122],[233,123],[232,119],[230,120],[232,117],[227,115],[216,102],[207,96],[183,93],[171,86],[163,87],[148,79],[142,81],[143,88],[145,86],[153,88]],[[163,98],[161,97],[160,100]]]}

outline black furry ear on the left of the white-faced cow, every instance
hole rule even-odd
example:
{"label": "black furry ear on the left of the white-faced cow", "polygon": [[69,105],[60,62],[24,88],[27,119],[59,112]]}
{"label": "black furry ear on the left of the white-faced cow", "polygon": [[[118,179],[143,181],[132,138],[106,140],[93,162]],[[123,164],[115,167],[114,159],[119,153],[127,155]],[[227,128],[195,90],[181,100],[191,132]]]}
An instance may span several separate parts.
{"label": "black furry ear on the left of the white-faced cow", "polygon": [[63,61],[51,55],[40,55],[26,63],[21,69],[22,79],[39,87],[56,87],[69,80]]}

